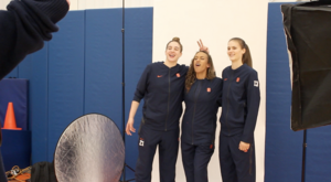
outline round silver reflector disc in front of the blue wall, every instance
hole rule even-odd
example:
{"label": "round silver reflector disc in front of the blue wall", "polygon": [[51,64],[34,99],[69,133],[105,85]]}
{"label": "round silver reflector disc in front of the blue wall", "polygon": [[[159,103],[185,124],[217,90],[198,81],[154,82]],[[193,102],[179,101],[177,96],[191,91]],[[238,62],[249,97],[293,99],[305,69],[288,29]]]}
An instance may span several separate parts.
{"label": "round silver reflector disc in front of the blue wall", "polygon": [[62,133],[54,156],[58,182],[118,182],[124,162],[120,131],[98,114],[74,120]]}

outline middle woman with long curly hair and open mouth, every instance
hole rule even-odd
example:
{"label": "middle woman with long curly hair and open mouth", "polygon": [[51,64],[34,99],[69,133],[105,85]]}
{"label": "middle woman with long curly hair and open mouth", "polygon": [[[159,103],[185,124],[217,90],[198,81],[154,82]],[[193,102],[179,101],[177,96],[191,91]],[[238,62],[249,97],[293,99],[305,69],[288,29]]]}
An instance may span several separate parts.
{"label": "middle woman with long curly hair and open mouth", "polygon": [[215,76],[211,55],[200,51],[185,79],[185,113],[181,149],[186,182],[207,182],[207,164],[214,153],[222,79]]}

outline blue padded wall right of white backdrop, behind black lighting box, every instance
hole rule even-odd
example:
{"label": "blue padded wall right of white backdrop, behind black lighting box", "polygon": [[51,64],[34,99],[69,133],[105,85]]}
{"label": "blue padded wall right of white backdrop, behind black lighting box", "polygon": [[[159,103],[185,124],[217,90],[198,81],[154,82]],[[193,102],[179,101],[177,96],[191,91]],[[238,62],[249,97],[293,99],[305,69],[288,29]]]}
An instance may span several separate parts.
{"label": "blue padded wall right of white backdrop, behind black lighting box", "polygon": [[[280,4],[269,3],[268,10],[266,182],[301,181],[303,133],[290,130],[290,74]],[[306,181],[331,179],[330,129],[307,130]]]}

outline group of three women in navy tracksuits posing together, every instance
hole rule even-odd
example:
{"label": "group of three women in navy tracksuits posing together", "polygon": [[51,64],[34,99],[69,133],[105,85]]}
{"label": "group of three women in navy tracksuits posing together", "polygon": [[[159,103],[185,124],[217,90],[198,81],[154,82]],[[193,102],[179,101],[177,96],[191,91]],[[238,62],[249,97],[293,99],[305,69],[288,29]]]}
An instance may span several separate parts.
{"label": "group of three women in navy tracksuits posing together", "polygon": [[238,38],[228,42],[232,65],[222,73],[223,88],[222,79],[215,77],[209,53],[196,53],[189,73],[186,66],[177,64],[181,54],[182,45],[179,39],[173,39],[167,44],[166,62],[148,65],[138,83],[126,128],[128,135],[135,131],[134,117],[140,99],[145,98],[136,181],[151,181],[152,160],[159,146],[160,181],[174,182],[179,118],[184,99],[181,147],[186,181],[207,181],[216,113],[222,103],[220,162],[223,182],[254,182],[254,130],[260,96],[248,46]]}

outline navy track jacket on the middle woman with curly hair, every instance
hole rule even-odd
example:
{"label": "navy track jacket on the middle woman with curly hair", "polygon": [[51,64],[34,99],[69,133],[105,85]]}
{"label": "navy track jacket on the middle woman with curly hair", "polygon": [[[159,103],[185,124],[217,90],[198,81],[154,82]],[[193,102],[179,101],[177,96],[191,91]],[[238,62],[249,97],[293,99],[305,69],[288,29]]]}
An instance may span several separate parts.
{"label": "navy track jacket on the middle woman with curly hair", "polygon": [[222,79],[196,79],[185,92],[182,141],[191,144],[214,143],[217,110],[222,104]]}

